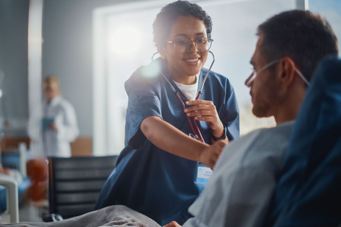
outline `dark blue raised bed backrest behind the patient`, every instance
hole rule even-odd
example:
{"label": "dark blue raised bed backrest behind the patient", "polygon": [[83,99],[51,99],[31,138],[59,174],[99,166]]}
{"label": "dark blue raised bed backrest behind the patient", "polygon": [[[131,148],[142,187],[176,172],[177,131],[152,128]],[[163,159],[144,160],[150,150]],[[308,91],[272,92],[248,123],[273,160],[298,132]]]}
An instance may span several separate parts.
{"label": "dark blue raised bed backrest behind the patient", "polygon": [[327,59],[315,72],[279,178],[266,218],[273,222],[263,226],[340,226],[341,60]]}

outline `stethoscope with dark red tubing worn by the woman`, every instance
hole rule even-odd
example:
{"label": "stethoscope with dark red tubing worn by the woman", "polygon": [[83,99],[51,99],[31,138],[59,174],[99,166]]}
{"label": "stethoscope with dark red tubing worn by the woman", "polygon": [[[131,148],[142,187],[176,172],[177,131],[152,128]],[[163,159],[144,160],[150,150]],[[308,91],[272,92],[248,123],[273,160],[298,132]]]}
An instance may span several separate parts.
{"label": "stethoscope with dark red tubing worn by the woman", "polygon": [[[204,77],[203,83],[201,84],[201,87],[200,87],[200,89],[199,89],[199,91],[198,91],[198,94],[197,94],[195,100],[198,100],[198,99],[200,98],[200,96],[201,96],[201,94],[202,94],[202,90],[203,90],[204,84],[205,84],[205,81],[206,81],[206,79],[207,79],[207,76],[208,76],[209,72],[211,71],[211,68],[212,68],[212,66],[213,66],[213,63],[214,63],[214,61],[215,61],[215,57],[214,57],[213,52],[210,51],[210,50],[209,50],[208,52],[210,52],[210,53],[212,54],[212,56],[213,56],[213,61],[212,61],[211,66],[209,67],[209,69],[208,69],[208,71],[207,71],[207,73],[206,73],[206,75],[205,75],[205,77]],[[151,56],[151,61],[154,61],[154,56],[157,55],[157,54],[159,54],[159,53],[160,53],[160,52],[154,53],[154,54]],[[175,90],[174,86],[169,82],[169,80],[168,80],[167,77],[162,73],[162,71],[161,71],[161,70],[159,70],[159,71],[160,71],[161,75],[166,79],[166,81],[168,82],[168,84],[170,85],[170,87],[172,88],[172,90],[173,90],[175,96],[178,98],[178,100],[179,100],[179,102],[180,102],[182,108],[183,108],[183,109],[186,109],[185,104],[184,104],[184,102],[182,101],[182,98],[181,98],[179,92]],[[185,99],[185,98],[183,98],[183,99]],[[187,100],[187,99],[186,99],[186,100]],[[201,135],[201,132],[200,132],[200,130],[199,130],[199,127],[198,127],[198,125],[197,125],[197,123],[196,123],[196,120],[192,117],[192,120],[193,120],[193,124],[192,124],[191,118],[190,118],[189,116],[187,116],[187,115],[186,115],[186,117],[187,117],[188,124],[189,124],[189,126],[190,126],[190,128],[191,128],[191,131],[192,131],[192,133],[189,134],[189,135],[190,135],[191,137],[193,137],[194,139],[196,139],[196,140],[201,140],[203,143],[205,143],[205,141],[204,141],[204,139],[203,139],[203,136]],[[194,125],[194,127],[193,127],[193,125]],[[195,129],[194,129],[194,128],[195,128]]]}

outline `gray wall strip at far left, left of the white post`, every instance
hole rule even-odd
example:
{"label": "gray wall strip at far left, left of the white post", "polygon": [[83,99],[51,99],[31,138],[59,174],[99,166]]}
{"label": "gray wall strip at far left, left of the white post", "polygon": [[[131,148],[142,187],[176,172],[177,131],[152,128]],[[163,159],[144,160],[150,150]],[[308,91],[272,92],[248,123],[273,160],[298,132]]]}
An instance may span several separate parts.
{"label": "gray wall strip at far left, left of the white post", "polygon": [[13,134],[25,134],[28,119],[28,7],[28,0],[0,0],[0,71],[5,75],[0,117],[8,115]]}

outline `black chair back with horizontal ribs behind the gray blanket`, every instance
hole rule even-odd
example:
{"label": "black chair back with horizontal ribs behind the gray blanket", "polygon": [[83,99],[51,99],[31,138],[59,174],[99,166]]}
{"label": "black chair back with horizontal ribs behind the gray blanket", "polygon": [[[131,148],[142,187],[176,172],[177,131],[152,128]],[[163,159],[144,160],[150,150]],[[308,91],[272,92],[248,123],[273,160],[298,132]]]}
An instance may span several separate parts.
{"label": "black chair back with horizontal ribs behind the gray blanket", "polygon": [[118,156],[49,158],[49,210],[70,218],[93,210]]}

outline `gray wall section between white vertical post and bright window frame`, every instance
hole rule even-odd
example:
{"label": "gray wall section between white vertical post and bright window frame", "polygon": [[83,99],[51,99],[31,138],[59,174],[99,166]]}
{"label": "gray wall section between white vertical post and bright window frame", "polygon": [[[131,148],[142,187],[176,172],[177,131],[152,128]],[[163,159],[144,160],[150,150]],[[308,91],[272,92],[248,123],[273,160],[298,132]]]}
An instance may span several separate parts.
{"label": "gray wall section between white vertical post and bright window frame", "polygon": [[43,76],[60,78],[75,107],[81,136],[92,136],[92,11],[124,0],[45,0]]}

